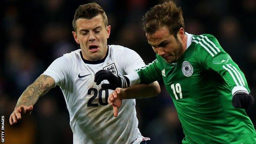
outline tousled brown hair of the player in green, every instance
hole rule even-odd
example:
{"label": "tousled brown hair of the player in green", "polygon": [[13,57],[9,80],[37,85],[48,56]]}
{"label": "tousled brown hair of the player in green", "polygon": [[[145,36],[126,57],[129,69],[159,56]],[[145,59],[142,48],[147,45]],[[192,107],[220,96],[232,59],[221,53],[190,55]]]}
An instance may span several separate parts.
{"label": "tousled brown hair of the player in green", "polygon": [[142,18],[142,27],[147,34],[155,33],[162,26],[167,26],[175,38],[178,30],[185,27],[182,10],[172,1],[155,5]]}

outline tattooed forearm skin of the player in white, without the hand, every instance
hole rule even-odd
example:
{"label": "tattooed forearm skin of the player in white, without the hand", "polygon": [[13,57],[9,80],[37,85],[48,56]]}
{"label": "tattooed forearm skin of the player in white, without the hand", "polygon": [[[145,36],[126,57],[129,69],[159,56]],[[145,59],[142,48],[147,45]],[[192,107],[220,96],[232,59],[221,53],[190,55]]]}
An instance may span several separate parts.
{"label": "tattooed forearm skin of the player in white, without the hand", "polygon": [[48,83],[45,83],[48,77],[48,75],[40,75],[37,80],[28,86],[18,99],[16,107],[34,105],[40,96],[46,94],[52,88],[49,87]]}

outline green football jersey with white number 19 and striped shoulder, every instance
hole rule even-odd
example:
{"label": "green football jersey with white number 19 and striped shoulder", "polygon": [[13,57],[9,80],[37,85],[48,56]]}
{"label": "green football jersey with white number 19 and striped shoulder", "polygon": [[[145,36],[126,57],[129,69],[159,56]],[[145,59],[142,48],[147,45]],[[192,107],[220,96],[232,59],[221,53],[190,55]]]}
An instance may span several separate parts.
{"label": "green football jersey with white number 19 and striped shoulder", "polygon": [[183,127],[183,144],[256,143],[245,110],[231,103],[233,94],[249,93],[238,65],[210,34],[189,34],[187,45],[175,64],[156,55],[155,61],[138,69],[140,83],[163,80]]}

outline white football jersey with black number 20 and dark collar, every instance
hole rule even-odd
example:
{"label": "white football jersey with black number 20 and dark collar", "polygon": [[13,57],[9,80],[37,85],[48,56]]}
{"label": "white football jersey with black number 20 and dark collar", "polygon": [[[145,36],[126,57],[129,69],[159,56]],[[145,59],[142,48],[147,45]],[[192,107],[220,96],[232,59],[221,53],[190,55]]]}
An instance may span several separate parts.
{"label": "white football jersey with black number 20 and dark collar", "polygon": [[135,99],[123,100],[118,117],[113,116],[107,97],[110,89],[94,82],[101,69],[116,75],[130,74],[144,66],[142,58],[123,46],[110,45],[104,59],[87,61],[81,49],[57,58],[43,73],[55,80],[64,94],[70,115],[74,144],[139,144],[148,140],[141,135],[136,117]]}

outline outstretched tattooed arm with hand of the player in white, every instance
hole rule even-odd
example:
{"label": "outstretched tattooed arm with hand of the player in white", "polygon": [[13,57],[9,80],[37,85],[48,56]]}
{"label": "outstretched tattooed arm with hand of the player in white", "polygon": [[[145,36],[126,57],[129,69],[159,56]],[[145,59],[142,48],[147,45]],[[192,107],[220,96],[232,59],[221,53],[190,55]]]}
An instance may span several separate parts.
{"label": "outstretched tattooed arm with hand of the player in white", "polygon": [[40,96],[46,94],[55,85],[55,81],[48,75],[40,75],[31,85],[21,94],[14,112],[11,113],[9,122],[11,125],[17,123],[23,114],[30,114],[33,105]]}

